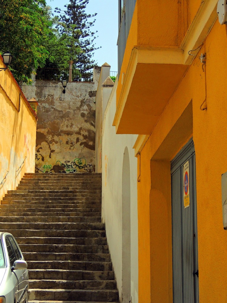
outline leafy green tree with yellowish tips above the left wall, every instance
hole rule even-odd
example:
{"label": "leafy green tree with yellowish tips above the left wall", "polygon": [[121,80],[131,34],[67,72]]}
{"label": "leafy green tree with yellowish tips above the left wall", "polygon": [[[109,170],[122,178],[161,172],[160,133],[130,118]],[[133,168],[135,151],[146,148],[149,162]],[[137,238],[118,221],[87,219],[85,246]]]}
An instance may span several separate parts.
{"label": "leafy green tree with yellowish tips above the left wall", "polygon": [[0,0],[0,51],[13,56],[15,79],[31,82],[32,71],[49,57],[45,41],[51,33],[45,0]]}

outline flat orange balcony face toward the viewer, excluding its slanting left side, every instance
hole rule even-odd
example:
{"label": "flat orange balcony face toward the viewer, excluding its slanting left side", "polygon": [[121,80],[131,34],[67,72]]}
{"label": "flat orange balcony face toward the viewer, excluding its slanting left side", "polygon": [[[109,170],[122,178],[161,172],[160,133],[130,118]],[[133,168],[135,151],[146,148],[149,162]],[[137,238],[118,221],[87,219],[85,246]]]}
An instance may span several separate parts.
{"label": "flat orange balcony face toward the viewer, excluding its slanting left side", "polygon": [[188,1],[137,0],[137,6],[138,45],[180,45],[189,25]]}

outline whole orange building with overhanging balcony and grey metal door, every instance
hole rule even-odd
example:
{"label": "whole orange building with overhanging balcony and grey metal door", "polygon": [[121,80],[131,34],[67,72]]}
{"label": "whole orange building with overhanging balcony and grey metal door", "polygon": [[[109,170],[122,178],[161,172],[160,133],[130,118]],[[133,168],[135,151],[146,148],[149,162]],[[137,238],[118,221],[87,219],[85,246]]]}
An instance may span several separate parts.
{"label": "whole orange building with overhanging balcony and grey metal door", "polygon": [[113,123],[139,134],[140,303],[227,301],[227,28],[217,3],[119,2]]}

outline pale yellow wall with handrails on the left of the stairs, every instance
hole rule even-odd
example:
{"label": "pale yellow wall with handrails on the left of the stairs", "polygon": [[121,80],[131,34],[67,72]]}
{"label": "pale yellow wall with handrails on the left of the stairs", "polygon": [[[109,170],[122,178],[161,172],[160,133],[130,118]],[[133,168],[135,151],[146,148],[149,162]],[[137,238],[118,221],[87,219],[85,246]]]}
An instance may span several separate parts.
{"label": "pale yellow wall with handrails on the left of the stairs", "polygon": [[35,139],[35,113],[11,72],[0,71],[0,200],[25,172],[35,172]]}

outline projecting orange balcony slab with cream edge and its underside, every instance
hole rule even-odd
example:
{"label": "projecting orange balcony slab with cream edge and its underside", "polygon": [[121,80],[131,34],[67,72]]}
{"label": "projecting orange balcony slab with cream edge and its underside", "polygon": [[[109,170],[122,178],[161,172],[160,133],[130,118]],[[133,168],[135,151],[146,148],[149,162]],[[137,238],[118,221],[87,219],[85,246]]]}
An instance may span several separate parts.
{"label": "projecting orange balcony slab with cream edge and its underside", "polygon": [[117,133],[150,134],[188,68],[183,60],[177,48],[133,48],[113,122]]}

